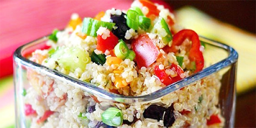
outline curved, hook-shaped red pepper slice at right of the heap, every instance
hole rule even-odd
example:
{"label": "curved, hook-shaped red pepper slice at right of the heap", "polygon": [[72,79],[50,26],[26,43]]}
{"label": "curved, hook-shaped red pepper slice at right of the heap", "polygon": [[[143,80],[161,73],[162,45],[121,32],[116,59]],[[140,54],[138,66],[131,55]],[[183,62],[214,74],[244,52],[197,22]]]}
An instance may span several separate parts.
{"label": "curved, hook-shaped red pepper slice at right of the heap", "polygon": [[191,40],[192,45],[189,50],[189,60],[195,61],[196,69],[195,72],[199,72],[204,68],[204,56],[200,51],[200,40],[195,31],[191,29],[183,29],[173,36],[172,46],[166,46],[163,48],[165,52],[177,52],[176,46],[179,46],[186,39]]}

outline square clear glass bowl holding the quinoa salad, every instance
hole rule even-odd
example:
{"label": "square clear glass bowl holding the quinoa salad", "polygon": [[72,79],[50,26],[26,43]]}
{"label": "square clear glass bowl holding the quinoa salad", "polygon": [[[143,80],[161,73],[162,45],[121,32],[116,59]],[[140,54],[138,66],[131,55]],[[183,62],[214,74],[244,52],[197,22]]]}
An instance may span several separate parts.
{"label": "square clear glass bowl holding the quinoa salad", "polygon": [[[136,120],[144,120],[142,123],[146,123],[147,125],[151,123],[152,125],[149,125],[151,127],[154,127],[157,123],[157,125],[166,126],[166,118],[161,118],[158,121],[153,119],[145,120],[143,113],[151,105],[161,106],[164,109],[175,109],[173,112],[173,116],[175,116],[175,120],[177,121],[173,124],[175,126],[201,125],[198,123],[198,120],[207,122],[208,124],[210,122],[209,120],[212,120],[211,115],[218,115],[221,123],[215,125],[216,127],[234,127],[238,54],[228,45],[200,37],[200,40],[205,42],[204,70],[192,76],[185,77],[177,83],[170,84],[156,92],[137,97],[129,97],[108,92],[93,84],[80,81],[74,77],[67,76],[61,72],[30,61],[28,58],[31,56],[31,52],[35,51],[35,49],[45,49],[47,40],[48,38],[44,37],[29,44],[22,45],[15,51],[13,56],[15,60],[13,62],[15,71],[15,123],[18,128],[35,127],[36,125],[40,127],[47,122],[52,123],[52,125],[54,123],[63,123],[66,127],[75,127],[76,123],[97,127],[99,122],[92,122],[85,119],[87,120],[86,122],[81,117],[88,116],[86,113],[90,112],[89,109],[96,109],[95,111],[101,109],[101,111],[104,111],[110,106],[124,108],[122,109],[124,124],[135,125],[134,122]],[[204,83],[210,85],[208,86]],[[48,86],[46,86],[47,84]],[[66,92],[62,91],[62,96],[64,95],[66,98],[60,95],[56,97],[55,95],[55,97],[53,96],[48,99],[47,97],[50,97],[51,91],[58,92],[63,90],[61,89],[63,87],[60,85],[66,88]],[[73,89],[68,92],[68,88]],[[75,90],[83,92],[84,100],[82,102],[76,101],[74,97],[70,99],[72,102],[67,101],[71,97],[70,95],[74,95]],[[193,101],[195,99],[196,102]],[[72,106],[74,102],[80,102],[79,104],[81,105]],[[92,105],[92,108],[86,108],[84,102],[88,103],[87,106]],[[96,102],[98,102],[98,105],[93,107]],[[175,105],[175,103],[177,104]],[[67,106],[71,107],[68,108]],[[138,108],[138,106],[140,107]],[[183,108],[180,109],[180,106],[183,106]],[[132,112],[133,116],[131,116],[131,113],[129,114],[128,109]],[[47,111],[51,115],[49,118],[47,118],[47,114],[45,115]],[[154,111],[158,110],[154,109]],[[100,116],[100,114],[98,113],[97,116]],[[183,115],[186,115],[186,117]],[[70,116],[69,121],[67,120],[68,116]],[[202,120],[202,116],[204,120]],[[187,121],[184,121],[184,118]],[[69,122],[67,123],[69,126],[63,120]],[[127,121],[130,123],[127,123]],[[204,127],[204,125],[201,126]]]}

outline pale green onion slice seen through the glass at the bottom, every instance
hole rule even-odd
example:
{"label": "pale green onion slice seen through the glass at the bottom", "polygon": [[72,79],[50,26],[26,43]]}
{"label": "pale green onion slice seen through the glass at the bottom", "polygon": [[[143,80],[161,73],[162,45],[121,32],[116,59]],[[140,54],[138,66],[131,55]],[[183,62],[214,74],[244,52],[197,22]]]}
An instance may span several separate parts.
{"label": "pale green onion slice seen through the glass at the bottom", "polygon": [[109,126],[118,127],[123,124],[123,113],[117,108],[108,108],[101,115],[102,122]]}

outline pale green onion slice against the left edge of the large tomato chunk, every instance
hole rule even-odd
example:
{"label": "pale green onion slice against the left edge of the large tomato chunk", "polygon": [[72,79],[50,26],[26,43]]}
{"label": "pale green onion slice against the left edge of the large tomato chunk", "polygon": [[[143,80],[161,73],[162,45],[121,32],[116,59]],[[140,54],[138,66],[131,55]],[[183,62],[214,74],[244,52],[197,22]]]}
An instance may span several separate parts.
{"label": "pale green onion slice against the left edge of the large tomato chunk", "polygon": [[115,46],[115,55],[116,57],[124,60],[129,55],[129,48],[123,40],[120,40]]}

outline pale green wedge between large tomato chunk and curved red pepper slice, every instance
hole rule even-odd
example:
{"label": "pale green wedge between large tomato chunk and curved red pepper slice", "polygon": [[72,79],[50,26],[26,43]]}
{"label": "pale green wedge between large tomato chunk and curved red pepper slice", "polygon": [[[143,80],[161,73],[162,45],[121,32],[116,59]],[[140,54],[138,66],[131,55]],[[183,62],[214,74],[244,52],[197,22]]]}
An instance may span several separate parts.
{"label": "pale green wedge between large tomato chunk and curved red pepper slice", "polygon": [[169,45],[172,40],[172,33],[170,32],[165,20],[161,17],[157,20],[156,24],[154,24],[154,28],[151,30],[151,33],[155,33],[160,36],[164,45]]}

